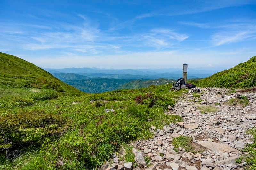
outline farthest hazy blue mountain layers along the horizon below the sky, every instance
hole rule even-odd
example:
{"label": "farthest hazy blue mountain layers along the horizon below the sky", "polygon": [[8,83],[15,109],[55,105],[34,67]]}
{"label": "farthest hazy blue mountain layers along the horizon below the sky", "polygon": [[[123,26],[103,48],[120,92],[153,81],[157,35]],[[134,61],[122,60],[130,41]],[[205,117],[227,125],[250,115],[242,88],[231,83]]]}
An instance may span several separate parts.
{"label": "farthest hazy blue mountain layers along the horizon below the sky", "polygon": [[[98,68],[65,68],[65,69],[44,69],[50,73],[76,73],[89,78],[114,78],[114,79],[179,79],[182,77],[182,69],[98,69]],[[224,68],[206,70],[206,68],[188,69],[188,79],[206,78],[212,74],[224,70]]]}

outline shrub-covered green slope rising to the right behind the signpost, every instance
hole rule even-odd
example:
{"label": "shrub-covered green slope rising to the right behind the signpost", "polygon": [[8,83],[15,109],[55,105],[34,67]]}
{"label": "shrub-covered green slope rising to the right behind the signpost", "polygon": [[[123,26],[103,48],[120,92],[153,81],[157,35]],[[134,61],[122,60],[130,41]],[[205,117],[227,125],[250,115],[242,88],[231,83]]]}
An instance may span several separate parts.
{"label": "shrub-covered green slope rising to the right behind the signpost", "polygon": [[199,87],[250,88],[256,86],[256,56],[235,67],[213,74],[210,77],[193,80]]}

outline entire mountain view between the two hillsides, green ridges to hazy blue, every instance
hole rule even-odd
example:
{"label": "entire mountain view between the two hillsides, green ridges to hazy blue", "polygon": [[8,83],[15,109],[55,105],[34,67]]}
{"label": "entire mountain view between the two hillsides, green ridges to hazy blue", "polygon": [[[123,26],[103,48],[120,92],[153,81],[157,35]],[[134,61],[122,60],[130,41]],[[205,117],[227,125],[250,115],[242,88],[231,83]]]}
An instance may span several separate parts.
{"label": "entire mountain view between the two hillsides, green ridges to hazy blue", "polygon": [[[137,89],[150,85],[172,83],[182,77],[182,69],[99,69],[64,68],[44,69],[61,81],[88,93],[101,93],[119,89]],[[221,70],[221,68],[219,68]],[[217,70],[188,69],[188,79],[211,76]]]}

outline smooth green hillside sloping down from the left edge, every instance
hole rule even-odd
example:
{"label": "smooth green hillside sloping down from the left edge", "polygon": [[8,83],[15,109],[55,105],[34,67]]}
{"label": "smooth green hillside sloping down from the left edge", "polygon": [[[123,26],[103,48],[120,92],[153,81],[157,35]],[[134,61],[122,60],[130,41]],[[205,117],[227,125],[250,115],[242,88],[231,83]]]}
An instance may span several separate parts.
{"label": "smooth green hillside sloping down from the left edge", "polygon": [[[83,92],[63,83],[47,71],[13,55],[0,53],[0,97],[15,94],[12,88],[21,93],[31,92],[28,89],[52,89],[72,95]],[[14,90],[14,91],[15,91]]]}

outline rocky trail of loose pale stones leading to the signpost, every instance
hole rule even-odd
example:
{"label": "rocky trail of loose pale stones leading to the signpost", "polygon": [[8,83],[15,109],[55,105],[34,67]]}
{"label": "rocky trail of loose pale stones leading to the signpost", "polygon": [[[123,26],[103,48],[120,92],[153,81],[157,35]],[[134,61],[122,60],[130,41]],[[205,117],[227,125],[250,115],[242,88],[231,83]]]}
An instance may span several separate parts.
{"label": "rocky trail of loose pale stones leading to the signpost", "polygon": [[[169,107],[166,114],[183,117],[184,122],[165,125],[163,129],[151,127],[153,139],[136,141],[133,153],[139,165],[134,169],[147,170],[233,170],[243,169],[245,163],[237,164],[242,149],[252,143],[253,136],[246,130],[255,127],[256,92],[230,93],[226,88],[201,88],[200,97],[185,94],[176,102],[174,108]],[[246,96],[249,106],[231,106],[226,102],[238,95]],[[217,107],[213,113],[201,113],[198,107]],[[174,151],[173,138],[189,136],[193,138],[192,146],[198,153],[186,152],[178,148]],[[132,169],[132,162],[119,162],[114,156],[112,166],[103,169]],[[151,165],[146,166],[145,157],[150,158]]]}

